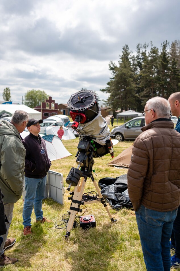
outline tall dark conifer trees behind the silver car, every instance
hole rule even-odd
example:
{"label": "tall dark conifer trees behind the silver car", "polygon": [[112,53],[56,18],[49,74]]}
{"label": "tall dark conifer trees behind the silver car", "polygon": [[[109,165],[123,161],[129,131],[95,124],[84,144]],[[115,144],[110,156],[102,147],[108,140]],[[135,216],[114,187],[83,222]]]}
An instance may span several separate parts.
{"label": "tall dark conifer trees behind the silver car", "polygon": [[110,61],[111,78],[102,92],[109,93],[106,106],[115,110],[144,110],[155,96],[168,99],[180,91],[180,41],[164,41],[161,48],[150,42],[137,44],[135,54],[123,46],[118,65]]}

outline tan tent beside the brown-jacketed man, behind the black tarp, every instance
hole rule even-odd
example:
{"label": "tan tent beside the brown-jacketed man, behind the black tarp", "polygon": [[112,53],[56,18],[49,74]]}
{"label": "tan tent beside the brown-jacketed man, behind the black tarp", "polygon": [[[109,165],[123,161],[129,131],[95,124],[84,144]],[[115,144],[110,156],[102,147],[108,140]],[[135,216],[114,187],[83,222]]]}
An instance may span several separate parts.
{"label": "tan tent beside the brown-jacketed man, behind the black tarp", "polygon": [[133,145],[122,151],[117,157],[115,157],[108,165],[117,167],[129,167],[131,161]]}

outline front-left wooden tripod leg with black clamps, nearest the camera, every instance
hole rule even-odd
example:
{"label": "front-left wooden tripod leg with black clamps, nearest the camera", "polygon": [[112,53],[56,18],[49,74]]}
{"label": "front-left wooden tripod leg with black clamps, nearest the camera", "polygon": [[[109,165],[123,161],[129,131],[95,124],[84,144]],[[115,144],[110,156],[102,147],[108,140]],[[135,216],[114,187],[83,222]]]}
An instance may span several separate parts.
{"label": "front-left wooden tripod leg with black clamps, nearest the camera", "polygon": [[78,185],[75,187],[73,199],[71,201],[71,206],[69,209],[70,217],[67,225],[67,232],[65,237],[69,237],[70,232],[73,228],[73,224],[75,221],[76,214],[79,212],[80,202],[82,200],[82,194],[84,191],[84,187],[86,185],[87,176],[79,180]]}

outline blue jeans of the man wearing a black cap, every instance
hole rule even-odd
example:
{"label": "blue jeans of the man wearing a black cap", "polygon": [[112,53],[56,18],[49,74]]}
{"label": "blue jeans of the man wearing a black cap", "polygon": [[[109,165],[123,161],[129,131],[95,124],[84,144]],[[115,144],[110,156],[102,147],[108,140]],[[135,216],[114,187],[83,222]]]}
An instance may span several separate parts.
{"label": "blue jeans of the man wearing a black cap", "polygon": [[31,226],[31,214],[34,205],[34,213],[36,220],[43,218],[42,200],[45,197],[46,177],[42,179],[35,179],[25,177],[26,196],[24,199],[24,207],[22,212],[24,228]]}

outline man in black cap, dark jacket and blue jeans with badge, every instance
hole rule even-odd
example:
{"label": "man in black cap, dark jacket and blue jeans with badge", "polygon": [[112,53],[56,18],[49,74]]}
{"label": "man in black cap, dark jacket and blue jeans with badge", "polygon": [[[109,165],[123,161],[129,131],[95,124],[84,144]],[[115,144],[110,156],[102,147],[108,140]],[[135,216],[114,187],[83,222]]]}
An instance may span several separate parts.
{"label": "man in black cap, dark jacket and blue jeans with badge", "polygon": [[27,129],[30,132],[22,141],[26,149],[25,158],[25,190],[26,196],[23,207],[23,234],[32,234],[31,214],[34,205],[36,222],[44,223],[50,220],[43,217],[42,200],[45,197],[47,171],[51,166],[44,139],[39,135],[42,120],[30,119]]}

